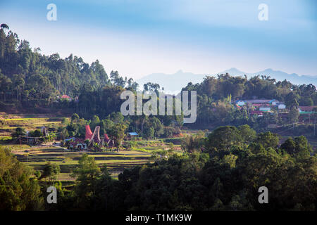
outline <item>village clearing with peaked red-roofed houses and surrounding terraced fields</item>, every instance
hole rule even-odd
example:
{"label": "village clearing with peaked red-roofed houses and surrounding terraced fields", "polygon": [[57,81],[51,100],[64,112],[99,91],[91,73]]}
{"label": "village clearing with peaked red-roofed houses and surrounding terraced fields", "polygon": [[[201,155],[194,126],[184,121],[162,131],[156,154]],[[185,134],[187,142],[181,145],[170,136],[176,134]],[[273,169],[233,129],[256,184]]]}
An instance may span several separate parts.
{"label": "village clearing with peaked red-roofed houses and surrounding terraced fields", "polygon": [[[70,118],[67,118],[68,120]],[[113,179],[123,169],[154,162],[157,158],[167,158],[168,154],[182,155],[180,138],[142,139],[135,131],[125,131],[120,145],[99,126],[87,124],[83,136],[64,136],[58,132],[63,127],[65,117],[56,115],[11,115],[0,113],[0,142],[4,148],[35,170],[43,171],[48,162],[61,168],[58,181],[63,184],[73,182],[70,176],[77,168],[82,154],[96,160],[97,165],[107,165]]]}

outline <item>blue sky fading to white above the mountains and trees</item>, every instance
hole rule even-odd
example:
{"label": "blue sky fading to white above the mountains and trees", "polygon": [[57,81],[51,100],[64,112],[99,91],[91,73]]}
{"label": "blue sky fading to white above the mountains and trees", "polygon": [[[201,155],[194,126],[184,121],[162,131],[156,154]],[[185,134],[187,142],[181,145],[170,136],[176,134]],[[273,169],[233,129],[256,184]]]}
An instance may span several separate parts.
{"label": "blue sky fading to white above the mountains and trees", "polygon": [[[57,6],[57,21],[46,6]],[[268,21],[258,19],[268,5]],[[42,53],[73,53],[135,79],[153,72],[213,74],[266,68],[317,75],[314,0],[0,2],[0,23]]]}

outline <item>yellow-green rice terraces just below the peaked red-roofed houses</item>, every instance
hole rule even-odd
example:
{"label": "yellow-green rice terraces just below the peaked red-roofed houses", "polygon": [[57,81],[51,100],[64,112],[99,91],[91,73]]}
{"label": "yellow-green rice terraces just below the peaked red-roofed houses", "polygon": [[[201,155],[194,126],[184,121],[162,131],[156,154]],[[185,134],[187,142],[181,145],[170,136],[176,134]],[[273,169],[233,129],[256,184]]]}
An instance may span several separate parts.
{"label": "yellow-green rice terraces just below the peaked red-roofed houses", "polygon": [[[136,147],[132,148],[132,150],[120,150],[119,152],[77,151],[57,146],[30,147],[18,144],[6,144],[5,146],[11,148],[11,152],[16,155],[20,162],[29,165],[35,170],[42,171],[47,162],[56,163],[61,168],[58,180],[72,181],[74,178],[70,174],[76,169],[78,160],[84,153],[94,158],[99,167],[106,165],[111,176],[116,178],[125,168],[147,164],[150,162],[151,153],[166,150],[167,148],[166,143],[162,140],[136,141],[135,145]],[[174,153],[182,154],[180,145],[174,146]]]}

